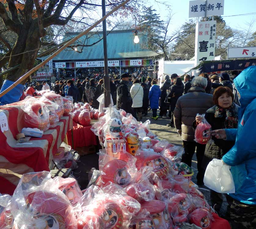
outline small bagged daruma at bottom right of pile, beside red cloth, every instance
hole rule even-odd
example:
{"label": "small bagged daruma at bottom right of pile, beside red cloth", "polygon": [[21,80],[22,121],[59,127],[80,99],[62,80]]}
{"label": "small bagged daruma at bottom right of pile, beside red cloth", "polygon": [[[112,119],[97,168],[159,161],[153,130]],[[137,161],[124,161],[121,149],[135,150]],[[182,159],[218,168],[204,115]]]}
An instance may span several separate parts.
{"label": "small bagged daruma at bottom right of pile, beside red cloth", "polygon": [[198,208],[189,215],[190,222],[203,229],[211,228],[210,213],[206,209]]}

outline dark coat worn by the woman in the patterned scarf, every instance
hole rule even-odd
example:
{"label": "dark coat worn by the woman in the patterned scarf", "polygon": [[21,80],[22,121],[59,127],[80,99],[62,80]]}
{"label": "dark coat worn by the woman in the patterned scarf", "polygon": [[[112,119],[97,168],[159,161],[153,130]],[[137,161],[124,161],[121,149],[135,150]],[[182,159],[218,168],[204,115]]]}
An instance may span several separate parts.
{"label": "dark coat worn by the woman in the patterned scarf", "polygon": [[[216,105],[208,109],[205,113],[207,122],[212,126],[212,130],[225,129],[225,117],[215,118]],[[238,113],[238,106],[236,107],[236,114]],[[203,168],[206,169],[209,162],[214,159],[221,159],[225,153],[227,153],[235,144],[235,141],[226,141],[223,139],[217,139],[212,136],[212,142],[207,143],[204,157],[203,157]]]}

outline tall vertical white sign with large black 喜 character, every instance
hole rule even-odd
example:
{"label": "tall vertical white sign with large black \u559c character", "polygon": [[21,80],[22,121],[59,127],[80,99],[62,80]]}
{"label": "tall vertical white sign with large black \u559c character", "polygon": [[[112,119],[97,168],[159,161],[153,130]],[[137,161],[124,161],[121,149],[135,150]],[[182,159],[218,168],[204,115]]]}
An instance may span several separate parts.
{"label": "tall vertical white sign with large black \u559c character", "polygon": [[216,21],[198,22],[196,24],[195,64],[214,60]]}

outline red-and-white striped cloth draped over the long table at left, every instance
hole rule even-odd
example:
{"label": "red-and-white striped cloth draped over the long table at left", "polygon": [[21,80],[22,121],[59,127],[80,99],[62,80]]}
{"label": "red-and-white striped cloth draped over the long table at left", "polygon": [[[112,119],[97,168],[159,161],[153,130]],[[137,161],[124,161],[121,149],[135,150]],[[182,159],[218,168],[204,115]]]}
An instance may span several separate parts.
{"label": "red-and-white striped cloth draped over the long table at left", "polygon": [[13,194],[22,174],[49,171],[53,152],[62,143],[68,129],[73,127],[70,116],[60,118],[55,128],[44,132],[42,138],[32,137],[31,145],[17,145],[16,134],[24,128],[22,102],[0,106],[8,119],[9,130],[0,129],[0,193]]}

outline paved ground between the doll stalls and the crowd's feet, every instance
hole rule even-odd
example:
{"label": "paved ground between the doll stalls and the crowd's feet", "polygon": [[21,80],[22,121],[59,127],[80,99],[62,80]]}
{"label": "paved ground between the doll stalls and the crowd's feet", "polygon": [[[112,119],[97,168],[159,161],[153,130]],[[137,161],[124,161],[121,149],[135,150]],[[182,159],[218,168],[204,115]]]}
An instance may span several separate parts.
{"label": "paved ground between the doll stalls and the crowd's feet", "polygon": [[[159,111],[158,111],[159,114]],[[159,139],[163,140],[166,139],[170,143],[173,143],[177,146],[182,146],[182,140],[180,136],[177,134],[177,131],[175,128],[167,127],[166,124],[170,122],[170,118],[167,117],[159,117],[158,120],[154,120],[151,118],[152,112],[148,112],[147,117],[143,117],[142,122],[145,122],[147,119],[150,119],[150,129],[153,133],[155,133],[157,136],[159,136]],[[86,156],[81,157],[81,162],[79,162],[79,168],[73,171],[73,175],[77,178],[79,184],[81,185],[82,189],[85,189],[88,184],[88,174],[90,172],[90,169],[92,167],[95,167],[98,169],[98,155],[90,154]],[[196,174],[197,174],[197,161],[196,161],[196,154],[194,154],[193,160],[192,160],[192,169],[194,171],[194,176],[192,178],[192,181],[196,183]],[[205,195],[207,201],[210,203],[210,191],[207,187],[203,186],[200,188],[201,192]],[[225,199],[225,197],[224,197]],[[220,216],[225,215],[225,211],[227,208],[227,202],[226,199],[222,205]]]}

